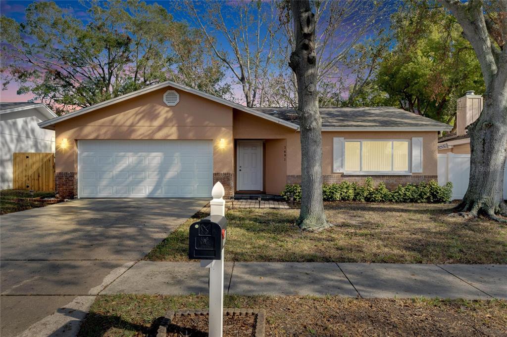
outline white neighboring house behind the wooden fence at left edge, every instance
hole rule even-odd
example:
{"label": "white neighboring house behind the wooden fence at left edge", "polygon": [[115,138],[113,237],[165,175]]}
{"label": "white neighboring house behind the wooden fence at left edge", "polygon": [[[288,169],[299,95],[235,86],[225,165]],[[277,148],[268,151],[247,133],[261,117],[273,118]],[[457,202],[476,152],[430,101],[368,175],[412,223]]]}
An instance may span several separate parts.
{"label": "white neighboring house behind the wooden fence at left edge", "polygon": [[55,132],[39,122],[56,117],[43,103],[0,103],[0,188],[12,188],[14,152],[54,152]]}

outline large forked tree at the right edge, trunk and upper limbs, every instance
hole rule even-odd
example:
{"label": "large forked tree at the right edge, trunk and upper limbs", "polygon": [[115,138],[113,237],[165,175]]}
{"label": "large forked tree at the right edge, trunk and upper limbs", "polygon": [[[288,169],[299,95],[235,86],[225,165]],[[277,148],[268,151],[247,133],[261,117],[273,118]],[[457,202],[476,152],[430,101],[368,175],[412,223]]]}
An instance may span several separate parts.
{"label": "large forked tree at the right edge, trunk and upper limbs", "polygon": [[474,48],[486,86],[484,108],[467,128],[470,135],[470,179],[461,203],[466,215],[485,213],[507,222],[503,170],[507,157],[507,0],[440,2],[451,11]]}

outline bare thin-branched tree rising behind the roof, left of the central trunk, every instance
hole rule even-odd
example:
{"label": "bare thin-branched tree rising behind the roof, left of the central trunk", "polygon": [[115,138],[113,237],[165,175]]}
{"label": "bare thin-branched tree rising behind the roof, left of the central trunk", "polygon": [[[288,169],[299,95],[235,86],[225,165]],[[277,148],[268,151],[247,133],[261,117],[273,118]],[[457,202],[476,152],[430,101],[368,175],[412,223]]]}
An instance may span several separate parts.
{"label": "bare thin-branched tree rising behind the roof, left of the central trunk", "polygon": [[[241,85],[246,106],[264,105],[266,78],[274,53],[273,6],[263,6],[261,1],[207,1],[196,6],[194,1],[186,1],[185,9],[200,27],[208,48]],[[219,40],[228,47],[222,48]]]}

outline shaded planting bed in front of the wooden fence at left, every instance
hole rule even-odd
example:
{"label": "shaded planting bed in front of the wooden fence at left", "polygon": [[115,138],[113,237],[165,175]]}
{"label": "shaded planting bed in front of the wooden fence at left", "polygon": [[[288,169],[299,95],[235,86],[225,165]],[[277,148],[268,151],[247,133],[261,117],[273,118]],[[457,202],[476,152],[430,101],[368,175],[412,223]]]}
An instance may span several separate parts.
{"label": "shaded planting bed in front of the wooden fence at left", "polygon": [[0,191],[0,214],[19,212],[31,208],[43,207],[58,202],[55,192],[33,192],[28,190],[2,190]]}

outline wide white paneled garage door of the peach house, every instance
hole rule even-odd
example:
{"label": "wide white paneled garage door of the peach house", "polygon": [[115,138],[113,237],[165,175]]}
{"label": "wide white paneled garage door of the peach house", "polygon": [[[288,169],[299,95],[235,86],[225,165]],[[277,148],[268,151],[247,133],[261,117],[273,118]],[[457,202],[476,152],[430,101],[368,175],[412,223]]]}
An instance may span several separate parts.
{"label": "wide white paneled garage door of the peach house", "polygon": [[211,141],[78,141],[81,198],[209,197]]}

